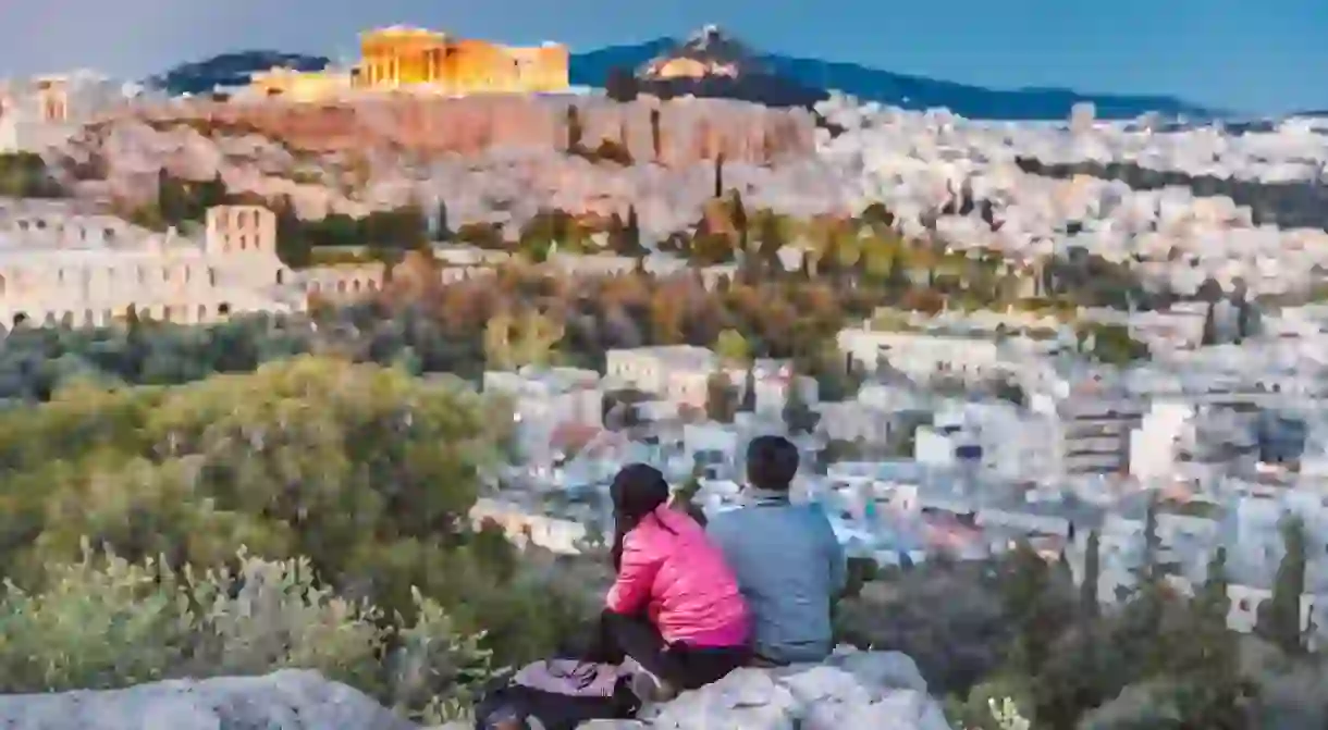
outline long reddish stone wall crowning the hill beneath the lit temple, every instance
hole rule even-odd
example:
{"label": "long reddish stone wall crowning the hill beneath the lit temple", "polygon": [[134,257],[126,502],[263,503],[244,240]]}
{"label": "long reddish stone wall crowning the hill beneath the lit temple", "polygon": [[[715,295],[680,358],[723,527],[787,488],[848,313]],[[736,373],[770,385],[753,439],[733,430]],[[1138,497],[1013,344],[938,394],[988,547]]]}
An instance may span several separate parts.
{"label": "long reddish stone wall crowning the hill beneath the lit temple", "polygon": [[594,149],[602,139],[610,139],[624,145],[636,162],[687,165],[722,154],[734,162],[769,165],[814,154],[815,149],[815,123],[805,110],[729,100],[661,102],[643,97],[618,104],[595,97],[401,94],[321,105],[280,100],[197,101],[126,113],[158,125],[252,131],[299,151],[390,147],[425,154],[475,154],[503,146],[566,151],[572,106],[584,147]]}

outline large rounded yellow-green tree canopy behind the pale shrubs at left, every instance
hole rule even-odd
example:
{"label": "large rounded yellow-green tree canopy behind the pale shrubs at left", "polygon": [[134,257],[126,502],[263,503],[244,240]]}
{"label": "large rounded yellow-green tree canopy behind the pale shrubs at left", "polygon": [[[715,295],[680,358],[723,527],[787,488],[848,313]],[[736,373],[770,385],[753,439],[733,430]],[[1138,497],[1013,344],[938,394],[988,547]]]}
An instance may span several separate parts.
{"label": "large rounded yellow-green tree canopy behind the pale shrubs at left", "polygon": [[[0,413],[0,565],[41,587],[85,539],[175,568],[223,567],[246,546],[305,556],[388,616],[413,617],[418,587],[467,630],[493,629],[503,660],[529,658],[560,629],[529,613],[538,593],[513,548],[467,518],[511,423],[502,407],[446,378],[319,357],[173,388],[72,385]],[[540,611],[556,613],[551,597]]]}

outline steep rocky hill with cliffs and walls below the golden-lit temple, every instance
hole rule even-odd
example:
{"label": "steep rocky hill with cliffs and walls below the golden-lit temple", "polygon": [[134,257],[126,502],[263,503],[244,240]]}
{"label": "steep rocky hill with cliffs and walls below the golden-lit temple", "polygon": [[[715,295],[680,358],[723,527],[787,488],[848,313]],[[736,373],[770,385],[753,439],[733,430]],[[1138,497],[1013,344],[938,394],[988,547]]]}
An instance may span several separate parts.
{"label": "steep rocky hill with cliffs and walls below the golden-lit temple", "polygon": [[441,199],[453,227],[517,230],[539,210],[607,218],[635,206],[643,234],[657,239],[700,219],[714,190],[710,158],[722,154],[724,187],[752,210],[843,212],[837,170],[803,154],[803,111],[722,100],[661,104],[655,155],[656,102],[574,101],[582,149],[610,139],[632,165],[567,154],[568,100],[522,97],[153,108],[86,127],[61,162],[78,178],[66,181],[77,196],[120,207],[150,202],[165,169],[189,181],[220,175],[236,195],[288,199],[307,219]]}

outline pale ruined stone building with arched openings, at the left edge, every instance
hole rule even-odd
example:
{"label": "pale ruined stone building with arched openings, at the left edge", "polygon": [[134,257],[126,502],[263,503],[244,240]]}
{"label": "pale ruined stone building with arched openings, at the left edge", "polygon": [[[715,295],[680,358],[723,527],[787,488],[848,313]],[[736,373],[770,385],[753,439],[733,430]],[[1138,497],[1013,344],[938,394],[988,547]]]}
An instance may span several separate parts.
{"label": "pale ruined stone building with arched openings, at the left edge", "polygon": [[208,324],[246,312],[299,312],[309,293],[352,297],[382,272],[291,271],[276,220],[256,206],[207,211],[201,238],[155,234],[58,204],[0,203],[0,325],[102,327],[137,316]]}

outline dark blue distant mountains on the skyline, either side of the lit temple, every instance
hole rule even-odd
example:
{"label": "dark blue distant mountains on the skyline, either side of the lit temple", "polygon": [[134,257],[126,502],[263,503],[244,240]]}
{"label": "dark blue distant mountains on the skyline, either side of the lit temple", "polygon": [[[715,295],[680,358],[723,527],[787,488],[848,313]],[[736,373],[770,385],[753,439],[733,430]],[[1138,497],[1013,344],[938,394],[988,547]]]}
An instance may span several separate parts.
{"label": "dark blue distant mountains on the skyline, either side of the lit temple", "polygon": [[[208,93],[248,81],[248,73],[288,65],[317,70],[328,58],[248,50],[177,66],[149,84],[171,93]],[[765,53],[748,48],[716,27],[685,40],[602,48],[571,57],[571,82],[603,86],[615,70],[632,72],[643,90],[660,96],[729,97],[770,106],[807,106],[834,89],[862,101],[904,109],[948,108],[977,119],[1064,119],[1078,102],[1092,102],[1098,118],[1127,119],[1147,111],[1163,117],[1208,119],[1223,113],[1166,96],[1086,94],[1068,89],[993,90],[857,64]]]}

